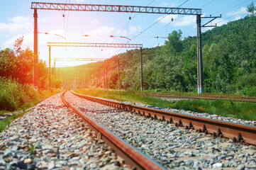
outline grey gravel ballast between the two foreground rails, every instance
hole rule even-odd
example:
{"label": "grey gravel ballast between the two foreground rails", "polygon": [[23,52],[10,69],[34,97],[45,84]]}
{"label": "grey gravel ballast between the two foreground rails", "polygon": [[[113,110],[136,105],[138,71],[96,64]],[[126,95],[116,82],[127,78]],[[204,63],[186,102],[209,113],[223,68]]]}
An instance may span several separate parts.
{"label": "grey gravel ballast between the two foreground rails", "polygon": [[70,92],[65,97],[167,169],[256,169],[256,147],[116,110]]}

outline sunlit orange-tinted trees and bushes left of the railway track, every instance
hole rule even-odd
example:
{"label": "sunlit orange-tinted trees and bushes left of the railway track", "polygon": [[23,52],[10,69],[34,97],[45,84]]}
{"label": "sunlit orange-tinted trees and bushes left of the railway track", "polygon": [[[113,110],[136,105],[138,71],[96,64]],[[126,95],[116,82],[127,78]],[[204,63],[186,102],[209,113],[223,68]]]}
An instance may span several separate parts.
{"label": "sunlit orange-tinted trees and bushes left of the railway track", "polygon": [[[33,87],[34,54],[21,49],[23,37],[18,38],[13,49],[0,51],[0,110],[15,111],[28,101],[40,101],[48,89],[48,69],[43,60],[38,62],[39,91]],[[57,84],[60,86],[61,83]],[[53,84],[52,84],[53,86]],[[25,106],[26,108],[26,106]]]}

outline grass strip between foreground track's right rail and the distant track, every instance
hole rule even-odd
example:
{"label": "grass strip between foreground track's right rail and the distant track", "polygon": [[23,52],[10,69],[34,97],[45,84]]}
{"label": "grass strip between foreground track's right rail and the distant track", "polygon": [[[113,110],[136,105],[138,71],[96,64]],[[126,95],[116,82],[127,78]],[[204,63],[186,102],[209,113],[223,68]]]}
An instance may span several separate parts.
{"label": "grass strip between foreground track's right rail and the distant track", "polygon": [[118,101],[130,101],[132,103],[138,102],[152,106],[160,106],[162,108],[176,108],[185,111],[216,114],[243,120],[256,120],[256,103],[236,102],[231,99],[229,101],[208,101],[203,99],[194,101],[165,101],[150,96],[139,96],[135,91],[77,89],[75,92],[90,96],[111,98]]}

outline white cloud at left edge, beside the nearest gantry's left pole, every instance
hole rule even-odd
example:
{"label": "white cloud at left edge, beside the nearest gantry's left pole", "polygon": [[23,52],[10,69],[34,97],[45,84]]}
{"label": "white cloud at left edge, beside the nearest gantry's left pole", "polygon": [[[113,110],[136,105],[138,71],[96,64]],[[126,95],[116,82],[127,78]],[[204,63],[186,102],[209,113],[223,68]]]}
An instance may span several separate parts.
{"label": "white cloud at left edge, beside the nearest gantry's left pole", "polygon": [[9,23],[0,23],[0,35],[17,35],[28,33],[33,29],[33,22],[30,17],[16,16],[8,19]]}

